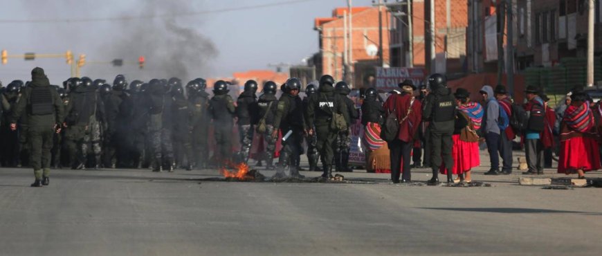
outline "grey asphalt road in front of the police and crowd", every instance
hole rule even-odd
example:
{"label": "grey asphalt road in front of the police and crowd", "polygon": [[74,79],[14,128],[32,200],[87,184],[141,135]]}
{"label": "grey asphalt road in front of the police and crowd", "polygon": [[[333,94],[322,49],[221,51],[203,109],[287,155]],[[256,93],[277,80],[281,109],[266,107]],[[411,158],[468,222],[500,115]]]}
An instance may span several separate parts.
{"label": "grey asphalt road in front of the police and crowd", "polygon": [[486,169],[491,188],[199,180],[217,170],[54,170],[30,188],[31,170],[0,168],[0,255],[599,255],[601,189]]}

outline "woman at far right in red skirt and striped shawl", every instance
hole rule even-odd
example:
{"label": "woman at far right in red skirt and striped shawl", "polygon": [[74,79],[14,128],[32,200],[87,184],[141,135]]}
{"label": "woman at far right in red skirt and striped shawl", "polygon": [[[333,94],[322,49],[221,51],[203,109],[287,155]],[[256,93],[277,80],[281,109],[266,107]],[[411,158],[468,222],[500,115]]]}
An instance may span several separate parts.
{"label": "woman at far right in red skirt and striped shawl", "polygon": [[585,172],[600,169],[599,136],[587,95],[573,93],[571,100],[560,123],[558,173],[585,179]]}

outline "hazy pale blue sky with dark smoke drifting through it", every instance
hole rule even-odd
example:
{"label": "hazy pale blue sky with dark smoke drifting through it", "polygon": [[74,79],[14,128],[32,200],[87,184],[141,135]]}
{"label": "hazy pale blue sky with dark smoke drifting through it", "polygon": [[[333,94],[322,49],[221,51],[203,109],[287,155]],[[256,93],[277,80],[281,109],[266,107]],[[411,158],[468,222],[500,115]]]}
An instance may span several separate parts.
{"label": "hazy pale blue sky with dark smoke drifting through it", "polygon": [[[304,57],[318,52],[313,19],[330,17],[334,8],[347,6],[346,0],[0,1],[0,49],[9,55],[71,49],[75,57],[85,53],[88,62],[116,58],[130,62],[120,68],[102,63],[82,68],[82,75],[107,80],[118,73],[129,80],[161,75],[228,77],[236,71],[270,68],[268,64],[300,64]],[[283,4],[253,7],[273,3]],[[369,6],[372,1],[354,0],[353,4]],[[241,7],[246,8],[213,11]],[[151,19],[109,19],[166,14]],[[25,22],[28,20],[37,22]],[[136,65],[139,55],[147,56],[142,71]],[[0,66],[0,80],[5,85],[14,79],[28,80],[35,66],[44,68],[54,84],[69,77],[71,70],[64,59],[10,59]]]}

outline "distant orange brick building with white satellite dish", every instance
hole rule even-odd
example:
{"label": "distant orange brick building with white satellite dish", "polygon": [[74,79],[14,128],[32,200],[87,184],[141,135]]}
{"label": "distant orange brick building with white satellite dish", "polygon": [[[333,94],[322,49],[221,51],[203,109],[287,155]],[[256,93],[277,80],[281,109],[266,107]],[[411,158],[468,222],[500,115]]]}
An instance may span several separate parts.
{"label": "distant orange brick building with white satellite dish", "polygon": [[[332,17],[316,18],[314,29],[319,33],[320,52],[313,55],[310,65],[316,66],[316,75],[332,75],[336,80],[345,79],[353,84],[360,84],[363,80],[363,71],[355,71],[358,62],[378,64],[378,55],[368,55],[366,48],[378,48],[378,8],[355,7],[352,8],[352,32],[345,51],[345,32],[348,31],[348,8],[336,8]],[[383,33],[383,60],[385,66],[389,65],[389,36],[390,15],[383,8],[382,12]],[[347,28],[347,29],[345,29]],[[371,46],[372,45],[372,46]],[[349,65],[344,65],[344,60],[349,58]]]}

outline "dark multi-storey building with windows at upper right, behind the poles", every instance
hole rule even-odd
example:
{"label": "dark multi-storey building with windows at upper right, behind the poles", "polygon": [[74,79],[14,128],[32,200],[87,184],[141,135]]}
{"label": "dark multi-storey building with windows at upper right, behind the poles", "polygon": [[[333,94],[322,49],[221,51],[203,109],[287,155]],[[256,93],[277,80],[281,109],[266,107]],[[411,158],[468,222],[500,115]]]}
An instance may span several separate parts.
{"label": "dark multi-storey building with windows at upper right, behind the poles", "polygon": [[[587,1],[513,0],[515,70],[555,66],[567,57],[587,55]],[[596,1],[594,51],[602,52],[602,4]],[[468,26],[469,71],[495,72],[496,15],[492,0],[470,1]],[[505,45],[505,43],[504,43]],[[495,53],[495,56],[493,56]]]}

